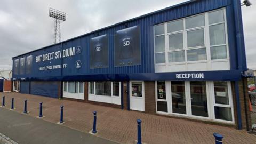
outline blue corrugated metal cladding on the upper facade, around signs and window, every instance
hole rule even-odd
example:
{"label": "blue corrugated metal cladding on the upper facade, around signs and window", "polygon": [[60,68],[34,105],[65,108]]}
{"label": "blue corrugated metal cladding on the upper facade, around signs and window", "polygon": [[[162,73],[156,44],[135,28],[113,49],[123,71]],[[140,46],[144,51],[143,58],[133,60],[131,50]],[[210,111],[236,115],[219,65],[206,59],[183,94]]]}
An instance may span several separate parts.
{"label": "blue corrugated metal cladding on the upper facade, around signs and window", "polygon": [[[166,21],[171,21],[175,19],[180,19],[188,17],[190,15],[203,13],[206,11],[211,11],[214,9],[219,9],[221,7],[226,7],[227,15],[227,26],[228,26],[228,42],[229,42],[229,53],[230,53],[230,69],[238,69],[237,60],[237,50],[236,50],[236,27],[234,24],[234,9],[233,1],[236,0],[202,0],[202,1],[188,1],[181,3],[179,5],[167,7],[166,9],[159,10],[147,15],[143,15],[138,18],[127,20],[116,25],[109,26],[100,30],[93,31],[89,34],[85,34],[79,37],[75,37],[64,41],[59,44],[43,47],[42,49],[14,57],[15,59],[20,59],[22,57],[27,57],[28,55],[33,55],[33,70],[31,74],[18,74],[13,73],[13,78],[28,78],[28,79],[42,79],[42,80],[58,80],[58,79],[70,79],[74,76],[100,76],[104,79],[108,79],[107,75],[113,75],[119,77],[122,74],[144,74],[144,73],[154,73],[154,35],[153,27],[158,23],[163,23]],[[117,30],[122,30],[125,28],[139,26],[140,27],[140,39],[141,39],[141,65],[137,66],[114,66],[114,36]],[[98,68],[90,69],[90,39],[100,35],[108,35],[108,46],[109,46],[109,67],[108,68]],[[82,48],[80,54],[76,54],[74,57],[55,59],[52,61],[35,62],[36,55],[45,54],[47,52],[55,52],[58,50],[68,49],[69,47]],[[245,53],[241,54],[243,60],[245,60]],[[77,69],[76,61],[79,60],[82,63],[81,68]],[[52,62],[52,63],[50,63]],[[54,70],[43,70],[40,71],[39,67],[45,65],[58,65],[67,64],[67,68],[54,69]],[[246,67],[246,63],[243,63]],[[86,76],[87,75],[87,76]],[[47,77],[47,78],[46,78]],[[122,78],[125,79],[125,76]]]}

